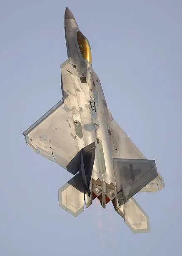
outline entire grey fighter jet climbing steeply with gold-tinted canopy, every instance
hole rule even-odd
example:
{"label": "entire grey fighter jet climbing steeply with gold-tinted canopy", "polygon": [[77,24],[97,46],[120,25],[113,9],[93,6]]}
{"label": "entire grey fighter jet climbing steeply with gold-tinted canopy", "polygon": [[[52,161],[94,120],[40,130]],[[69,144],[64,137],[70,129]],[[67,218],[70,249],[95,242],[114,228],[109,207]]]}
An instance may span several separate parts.
{"label": "entire grey fighter jet climbing steeply with gold-tinted canopy", "polygon": [[59,205],[80,215],[96,197],[114,208],[133,233],[150,232],[149,217],[133,198],[157,192],[164,180],[112,117],[100,79],[92,68],[88,39],[66,8],[68,59],[61,65],[62,101],[23,135],[37,153],[74,176],[59,189]]}

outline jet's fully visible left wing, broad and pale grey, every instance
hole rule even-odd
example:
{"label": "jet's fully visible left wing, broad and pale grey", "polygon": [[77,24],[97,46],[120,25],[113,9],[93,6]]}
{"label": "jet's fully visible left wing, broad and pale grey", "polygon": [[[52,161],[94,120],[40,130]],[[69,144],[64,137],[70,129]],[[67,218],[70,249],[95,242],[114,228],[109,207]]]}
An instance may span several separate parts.
{"label": "jet's fully visible left wing, broad and pale grey", "polygon": [[58,102],[23,135],[27,144],[37,153],[66,169],[78,153],[72,111]]}

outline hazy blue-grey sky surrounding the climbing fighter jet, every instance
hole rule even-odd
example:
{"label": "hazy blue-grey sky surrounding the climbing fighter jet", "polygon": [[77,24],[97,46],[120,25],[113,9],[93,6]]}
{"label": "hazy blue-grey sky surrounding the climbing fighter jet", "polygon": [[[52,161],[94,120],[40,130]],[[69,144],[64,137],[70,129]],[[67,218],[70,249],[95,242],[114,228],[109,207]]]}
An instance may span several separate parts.
{"label": "hazy blue-grey sky surrounding the climbing fighter jet", "polygon": [[[112,203],[77,218],[58,206],[72,175],[22,132],[62,98],[68,7],[119,125],[166,187],[140,193],[151,233],[133,234]],[[182,1],[0,1],[0,256],[182,255]]]}

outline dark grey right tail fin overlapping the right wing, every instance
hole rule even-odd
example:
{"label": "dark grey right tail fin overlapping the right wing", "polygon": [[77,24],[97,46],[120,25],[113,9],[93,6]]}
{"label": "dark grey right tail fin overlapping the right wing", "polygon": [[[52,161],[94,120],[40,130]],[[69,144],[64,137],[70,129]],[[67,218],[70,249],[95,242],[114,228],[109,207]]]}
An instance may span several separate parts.
{"label": "dark grey right tail fin overlapping the right wing", "polygon": [[119,205],[126,203],[158,175],[155,160],[114,158],[113,167]]}

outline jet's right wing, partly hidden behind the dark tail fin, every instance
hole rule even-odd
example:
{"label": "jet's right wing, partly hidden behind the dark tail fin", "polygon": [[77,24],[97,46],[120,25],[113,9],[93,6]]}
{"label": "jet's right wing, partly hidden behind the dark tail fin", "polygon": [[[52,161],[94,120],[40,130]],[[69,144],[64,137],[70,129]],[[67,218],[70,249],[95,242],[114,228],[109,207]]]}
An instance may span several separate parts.
{"label": "jet's right wing, partly hidden behind the dark tail fin", "polygon": [[[113,158],[122,159],[146,159],[135,144],[130,140],[120,125],[111,116],[110,130],[115,146]],[[164,180],[158,173],[158,176],[147,184],[140,192],[157,192],[165,186]]]}

